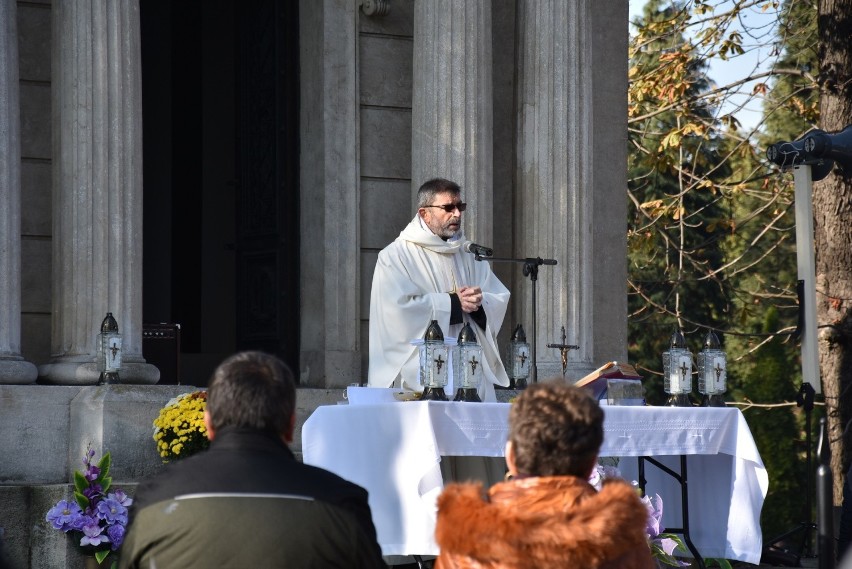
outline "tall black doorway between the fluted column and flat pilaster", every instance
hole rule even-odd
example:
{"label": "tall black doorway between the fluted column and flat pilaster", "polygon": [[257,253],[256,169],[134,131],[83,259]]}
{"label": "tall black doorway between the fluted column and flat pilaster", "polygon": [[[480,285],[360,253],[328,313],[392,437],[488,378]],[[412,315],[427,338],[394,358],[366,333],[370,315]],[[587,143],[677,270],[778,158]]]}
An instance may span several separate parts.
{"label": "tall black doorway between the fluted column and flat pilaster", "polygon": [[298,376],[297,9],[140,2],[143,319],[180,325],[181,383],[243,349]]}

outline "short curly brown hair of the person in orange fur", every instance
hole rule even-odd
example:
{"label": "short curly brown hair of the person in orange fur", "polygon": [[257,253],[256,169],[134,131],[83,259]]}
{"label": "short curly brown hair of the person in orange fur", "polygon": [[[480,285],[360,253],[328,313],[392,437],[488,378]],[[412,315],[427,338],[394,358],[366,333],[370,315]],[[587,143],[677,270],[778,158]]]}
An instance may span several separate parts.
{"label": "short curly brown hair of the person in orange fur", "polygon": [[583,388],[561,380],[527,387],[509,411],[518,474],[587,477],[603,443],[603,417]]}

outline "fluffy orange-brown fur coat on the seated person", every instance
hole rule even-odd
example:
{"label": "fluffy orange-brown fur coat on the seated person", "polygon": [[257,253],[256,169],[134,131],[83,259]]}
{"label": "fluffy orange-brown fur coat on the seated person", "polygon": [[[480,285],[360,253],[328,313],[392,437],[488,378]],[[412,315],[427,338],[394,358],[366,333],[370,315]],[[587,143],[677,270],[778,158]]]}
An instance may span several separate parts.
{"label": "fluffy orange-brown fur coat on the seated person", "polygon": [[438,498],[435,569],[651,569],[648,510],[626,482],[573,476],[451,484]]}

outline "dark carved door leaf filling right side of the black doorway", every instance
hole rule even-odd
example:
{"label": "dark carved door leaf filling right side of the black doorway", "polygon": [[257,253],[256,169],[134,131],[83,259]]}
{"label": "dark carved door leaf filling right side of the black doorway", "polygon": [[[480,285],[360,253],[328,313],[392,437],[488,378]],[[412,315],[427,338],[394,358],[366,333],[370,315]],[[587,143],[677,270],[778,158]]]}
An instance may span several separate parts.
{"label": "dark carved door leaf filling right side of the black doorway", "polygon": [[237,21],[237,348],[299,370],[298,3]]}

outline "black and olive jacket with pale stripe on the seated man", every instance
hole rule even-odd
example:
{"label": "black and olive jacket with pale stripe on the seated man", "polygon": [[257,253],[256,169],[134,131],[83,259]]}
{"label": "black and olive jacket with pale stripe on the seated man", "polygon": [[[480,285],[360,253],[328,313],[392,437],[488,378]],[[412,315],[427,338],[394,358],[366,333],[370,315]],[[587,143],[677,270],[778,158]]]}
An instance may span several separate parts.
{"label": "black and olive jacket with pale stripe on the seated man", "polygon": [[367,492],[279,438],[222,429],[139,485],[122,568],[385,568]]}

